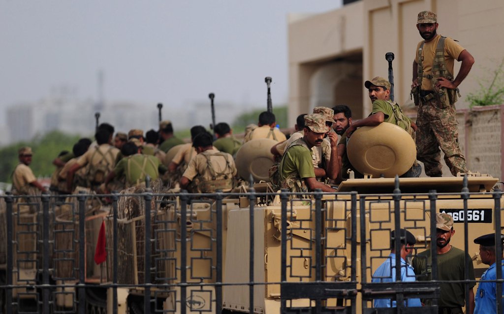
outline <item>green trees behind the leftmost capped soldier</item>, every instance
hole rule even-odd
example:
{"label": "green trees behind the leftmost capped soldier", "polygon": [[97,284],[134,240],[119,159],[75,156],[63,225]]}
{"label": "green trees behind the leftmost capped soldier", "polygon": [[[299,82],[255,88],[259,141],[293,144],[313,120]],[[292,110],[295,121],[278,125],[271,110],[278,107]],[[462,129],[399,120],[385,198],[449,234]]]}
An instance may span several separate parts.
{"label": "green trees behind the leftmost capped soldier", "polygon": [[19,163],[18,149],[30,146],[33,150],[33,161],[30,165],[36,177],[49,177],[54,171],[52,161],[62,150],[71,151],[79,140],[78,135],[67,135],[59,131],[52,131],[43,136],[36,136],[30,142],[11,144],[0,148],[0,182],[12,182],[12,172]]}

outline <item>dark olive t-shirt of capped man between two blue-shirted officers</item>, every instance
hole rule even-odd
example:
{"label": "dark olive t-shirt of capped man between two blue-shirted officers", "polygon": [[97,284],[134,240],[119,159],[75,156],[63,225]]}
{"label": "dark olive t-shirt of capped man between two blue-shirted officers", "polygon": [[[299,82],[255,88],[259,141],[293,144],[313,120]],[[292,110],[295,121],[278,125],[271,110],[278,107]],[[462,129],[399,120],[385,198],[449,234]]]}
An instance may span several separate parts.
{"label": "dark olive t-shirt of capped man between two blue-shirted officers", "polygon": [[[465,256],[467,254],[454,246],[445,254],[437,254],[437,279],[439,281],[456,281],[464,280],[465,271]],[[474,267],[472,260],[469,258],[469,280],[474,279]],[[413,270],[417,275],[418,281],[426,281],[431,279],[431,268],[427,267],[431,264],[430,250],[418,253],[413,258]],[[463,283],[441,283],[438,305],[443,307],[464,306],[465,289]],[[471,283],[469,287],[474,287],[475,283]]]}

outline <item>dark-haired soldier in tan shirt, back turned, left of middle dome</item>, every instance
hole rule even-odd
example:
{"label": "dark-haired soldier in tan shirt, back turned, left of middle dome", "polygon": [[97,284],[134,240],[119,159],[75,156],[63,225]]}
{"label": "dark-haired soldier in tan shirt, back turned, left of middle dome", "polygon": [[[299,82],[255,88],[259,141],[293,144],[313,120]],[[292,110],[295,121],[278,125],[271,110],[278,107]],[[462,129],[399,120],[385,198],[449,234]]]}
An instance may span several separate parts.
{"label": "dark-haired soldier in tan shirt, back turned, left of middle dome", "polygon": [[233,156],[215,149],[212,146],[212,135],[208,132],[198,134],[193,139],[193,146],[198,154],[187,165],[180,178],[180,187],[187,188],[191,183],[190,192],[230,191],[236,175]]}

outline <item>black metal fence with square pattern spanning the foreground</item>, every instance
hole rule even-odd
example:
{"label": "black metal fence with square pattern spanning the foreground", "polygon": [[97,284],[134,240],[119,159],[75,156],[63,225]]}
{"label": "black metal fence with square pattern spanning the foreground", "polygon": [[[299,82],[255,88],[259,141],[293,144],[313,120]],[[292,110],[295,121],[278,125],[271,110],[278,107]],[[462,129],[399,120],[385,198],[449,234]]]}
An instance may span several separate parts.
{"label": "black metal fence with square pattern spanning the foreground", "polygon": [[[486,225],[457,223],[464,230],[460,248],[469,252],[474,237],[501,230],[502,193],[404,194],[397,182],[394,193],[374,195],[250,188],[0,201],[2,312],[406,313],[415,309],[403,300],[421,298],[422,311],[436,313],[444,282],[437,280],[436,246],[429,245],[436,239],[430,218],[450,206],[465,218],[476,208],[491,215],[491,223],[477,222]],[[390,270],[396,281],[373,282],[390,253],[390,232],[400,228],[424,239],[413,255],[430,250],[431,279],[401,281],[403,266]],[[500,265],[500,246],[496,255]],[[496,273],[492,282],[502,283],[501,268]],[[467,267],[458,282],[478,284]],[[502,295],[500,284],[496,291]],[[379,298],[397,308],[373,308]],[[495,306],[502,310],[502,297]]]}

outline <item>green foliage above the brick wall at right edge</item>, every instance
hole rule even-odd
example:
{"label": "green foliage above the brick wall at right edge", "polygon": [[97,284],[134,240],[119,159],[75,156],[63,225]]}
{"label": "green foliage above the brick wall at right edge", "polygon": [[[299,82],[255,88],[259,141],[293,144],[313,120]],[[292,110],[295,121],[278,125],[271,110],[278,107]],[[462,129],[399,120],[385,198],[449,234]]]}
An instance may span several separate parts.
{"label": "green foliage above the brick wall at right edge", "polygon": [[503,66],[504,59],[502,59],[498,68],[493,70],[493,78],[490,82],[488,80],[484,80],[483,82],[485,84],[479,83],[480,89],[477,92],[467,95],[469,108],[472,108],[474,106],[490,106],[492,104],[504,103]]}

